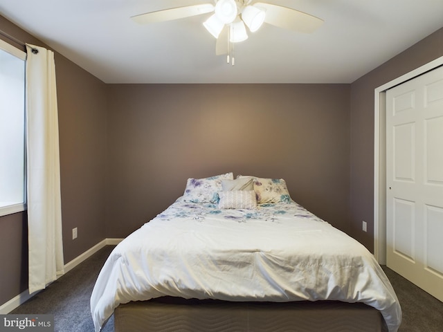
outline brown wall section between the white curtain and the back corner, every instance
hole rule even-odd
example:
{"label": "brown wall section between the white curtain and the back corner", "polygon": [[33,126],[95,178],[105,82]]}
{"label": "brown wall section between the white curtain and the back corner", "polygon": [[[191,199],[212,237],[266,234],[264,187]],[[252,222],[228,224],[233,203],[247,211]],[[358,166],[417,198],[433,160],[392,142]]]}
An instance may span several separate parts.
{"label": "brown wall section between the white curtain and the back corner", "polygon": [[[105,239],[107,86],[55,57],[64,261]],[[78,238],[72,239],[72,229]]]}

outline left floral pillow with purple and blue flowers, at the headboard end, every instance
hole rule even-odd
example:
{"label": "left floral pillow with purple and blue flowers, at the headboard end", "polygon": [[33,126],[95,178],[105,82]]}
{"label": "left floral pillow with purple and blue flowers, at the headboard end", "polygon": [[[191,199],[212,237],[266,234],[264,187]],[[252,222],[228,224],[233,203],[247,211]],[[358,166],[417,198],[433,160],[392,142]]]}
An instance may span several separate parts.
{"label": "left floral pillow with purple and blue flowers, at the headboard end", "polygon": [[218,203],[221,180],[234,179],[232,172],[209,178],[188,178],[183,201],[192,203]]}

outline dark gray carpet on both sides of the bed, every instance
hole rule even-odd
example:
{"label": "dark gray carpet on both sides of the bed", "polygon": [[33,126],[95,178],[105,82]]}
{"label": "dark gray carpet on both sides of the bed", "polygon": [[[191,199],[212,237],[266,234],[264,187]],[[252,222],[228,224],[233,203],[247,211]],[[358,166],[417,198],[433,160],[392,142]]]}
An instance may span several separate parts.
{"label": "dark gray carpet on both sides of the bed", "polygon": [[[50,313],[55,317],[56,332],[93,332],[89,297],[100,268],[113,248],[114,246],[102,248],[12,313]],[[383,266],[383,270],[388,275],[403,310],[403,322],[399,331],[443,331],[443,303],[386,266]],[[112,317],[102,331],[114,332]]]}

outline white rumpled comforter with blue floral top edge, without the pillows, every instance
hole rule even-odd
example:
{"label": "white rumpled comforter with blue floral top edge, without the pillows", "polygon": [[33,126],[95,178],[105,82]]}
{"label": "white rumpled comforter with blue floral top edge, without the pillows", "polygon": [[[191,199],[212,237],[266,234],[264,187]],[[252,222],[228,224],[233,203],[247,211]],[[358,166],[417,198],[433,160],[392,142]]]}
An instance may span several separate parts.
{"label": "white rumpled comforter with blue floral top edge, without the pillows", "polygon": [[111,253],[91,295],[96,331],[118,304],[165,295],[228,301],[341,300],[401,308],[359,242],[296,203],[219,210],[178,199]]}

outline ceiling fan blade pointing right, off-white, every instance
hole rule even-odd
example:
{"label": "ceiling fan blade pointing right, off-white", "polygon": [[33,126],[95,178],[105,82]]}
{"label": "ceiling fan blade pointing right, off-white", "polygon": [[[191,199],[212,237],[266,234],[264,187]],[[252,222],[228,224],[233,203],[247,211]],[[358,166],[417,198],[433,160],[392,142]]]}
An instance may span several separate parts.
{"label": "ceiling fan blade pointing right, off-white", "polygon": [[298,31],[300,33],[313,33],[323,24],[323,19],[295,9],[262,2],[255,3],[255,6],[266,10],[264,21],[267,24],[272,24],[280,28]]}

